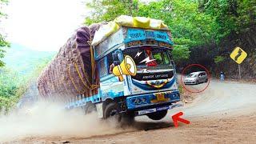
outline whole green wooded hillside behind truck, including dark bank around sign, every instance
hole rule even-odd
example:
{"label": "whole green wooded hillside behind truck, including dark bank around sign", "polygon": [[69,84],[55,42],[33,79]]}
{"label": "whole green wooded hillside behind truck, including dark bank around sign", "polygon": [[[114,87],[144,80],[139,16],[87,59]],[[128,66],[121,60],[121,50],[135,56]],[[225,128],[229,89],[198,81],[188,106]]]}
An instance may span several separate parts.
{"label": "whole green wooded hillside behind truck, including dark bank around sign", "polygon": [[[162,19],[174,40],[174,60],[180,70],[200,63],[213,75],[222,70],[237,78],[238,65],[229,58],[234,47],[249,54],[243,78],[256,76],[256,1],[250,0],[93,0],[86,24],[111,21],[121,14]],[[249,68],[249,69],[248,69]]]}

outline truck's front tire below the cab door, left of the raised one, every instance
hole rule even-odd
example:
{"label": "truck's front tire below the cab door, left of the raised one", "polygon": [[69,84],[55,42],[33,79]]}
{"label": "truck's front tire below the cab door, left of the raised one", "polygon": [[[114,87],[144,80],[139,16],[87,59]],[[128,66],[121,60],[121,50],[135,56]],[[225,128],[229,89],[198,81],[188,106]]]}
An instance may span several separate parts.
{"label": "truck's front tire below the cab door, left of the raised one", "polygon": [[121,114],[118,114],[118,104],[115,102],[110,102],[106,105],[104,109],[103,116],[105,119],[114,118],[114,120],[121,122]]}

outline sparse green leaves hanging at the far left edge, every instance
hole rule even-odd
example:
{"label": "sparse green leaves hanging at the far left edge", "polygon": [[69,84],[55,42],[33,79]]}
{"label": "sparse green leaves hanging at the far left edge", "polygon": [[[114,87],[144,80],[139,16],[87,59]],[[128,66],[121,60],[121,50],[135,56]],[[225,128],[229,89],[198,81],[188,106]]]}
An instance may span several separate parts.
{"label": "sparse green leaves hanging at the far left edge", "polygon": [[[6,5],[7,2],[8,2],[7,0],[0,0],[0,20],[2,20],[2,18],[6,18],[6,14],[2,12],[1,8],[2,6]],[[6,52],[4,48],[9,46],[10,46],[10,43],[6,42],[5,36],[0,33],[0,67],[4,66],[4,62],[2,62],[1,60],[5,56],[4,53]]]}

